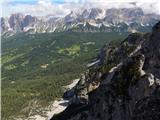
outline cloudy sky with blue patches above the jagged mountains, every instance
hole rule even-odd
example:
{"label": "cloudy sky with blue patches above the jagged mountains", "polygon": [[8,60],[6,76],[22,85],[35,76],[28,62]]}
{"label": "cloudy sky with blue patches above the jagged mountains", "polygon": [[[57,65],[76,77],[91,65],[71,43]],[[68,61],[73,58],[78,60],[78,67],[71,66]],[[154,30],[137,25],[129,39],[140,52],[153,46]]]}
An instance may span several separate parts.
{"label": "cloudy sky with blue patches above the jagged mountains", "polygon": [[123,8],[141,7],[147,13],[160,14],[160,0],[0,0],[1,15],[13,13],[35,16],[63,16],[80,8]]}

